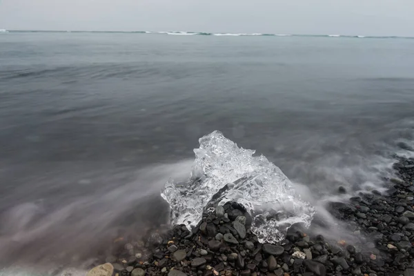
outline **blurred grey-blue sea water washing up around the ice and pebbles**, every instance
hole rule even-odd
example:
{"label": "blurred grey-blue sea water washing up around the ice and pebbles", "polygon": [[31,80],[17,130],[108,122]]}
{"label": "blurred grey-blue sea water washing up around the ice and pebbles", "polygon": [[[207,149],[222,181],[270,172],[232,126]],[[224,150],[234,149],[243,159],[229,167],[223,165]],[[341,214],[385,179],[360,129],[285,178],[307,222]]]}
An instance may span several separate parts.
{"label": "blurred grey-blue sea water washing up around the ice and pebbles", "polygon": [[2,32],[0,266],[81,267],[165,223],[213,130],[313,204],[381,189],[413,154],[413,72],[414,39]]}

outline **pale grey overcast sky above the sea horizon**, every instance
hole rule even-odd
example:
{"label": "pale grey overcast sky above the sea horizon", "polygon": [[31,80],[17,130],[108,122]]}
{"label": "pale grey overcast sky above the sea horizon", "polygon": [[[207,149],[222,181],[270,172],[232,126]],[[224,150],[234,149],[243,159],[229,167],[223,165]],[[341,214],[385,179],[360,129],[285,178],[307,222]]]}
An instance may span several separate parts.
{"label": "pale grey overcast sky above the sea horizon", "polygon": [[0,0],[0,29],[414,37],[414,0]]}

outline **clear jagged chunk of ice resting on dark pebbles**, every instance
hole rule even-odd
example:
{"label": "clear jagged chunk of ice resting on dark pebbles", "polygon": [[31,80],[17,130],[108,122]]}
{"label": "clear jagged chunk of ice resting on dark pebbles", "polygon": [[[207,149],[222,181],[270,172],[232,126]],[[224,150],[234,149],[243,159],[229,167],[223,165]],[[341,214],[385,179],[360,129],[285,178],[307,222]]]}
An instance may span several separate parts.
{"label": "clear jagged chunk of ice resting on dark pebbles", "polygon": [[228,201],[246,207],[260,242],[279,242],[292,224],[311,224],[315,209],[266,157],[253,157],[254,150],[238,148],[219,131],[201,137],[199,144],[190,179],[170,180],[161,193],[170,204],[172,224],[193,228],[206,206]]}

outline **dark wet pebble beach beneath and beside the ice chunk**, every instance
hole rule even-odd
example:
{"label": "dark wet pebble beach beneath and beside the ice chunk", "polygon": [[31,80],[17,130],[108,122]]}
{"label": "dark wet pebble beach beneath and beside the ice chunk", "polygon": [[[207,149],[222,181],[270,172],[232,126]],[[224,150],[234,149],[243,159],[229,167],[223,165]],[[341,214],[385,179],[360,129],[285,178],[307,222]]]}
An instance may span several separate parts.
{"label": "dark wet pebble beach beneath and beside the ice chunk", "polygon": [[[381,194],[359,193],[331,203],[330,213],[353,228],[362,243],[327,241],[324,233],[293,226],[278,244],[260,244],[243,206],[225,204],[191,232],[175,226],[152,233],[146,244],[125,244],[88,275],[414,275],[414,159],[400,157]],[[138,248],[145,248],[138,250]],[[138,252],[138,253],[137,253]]]}

